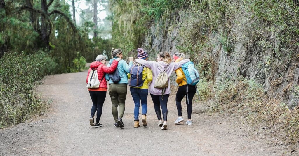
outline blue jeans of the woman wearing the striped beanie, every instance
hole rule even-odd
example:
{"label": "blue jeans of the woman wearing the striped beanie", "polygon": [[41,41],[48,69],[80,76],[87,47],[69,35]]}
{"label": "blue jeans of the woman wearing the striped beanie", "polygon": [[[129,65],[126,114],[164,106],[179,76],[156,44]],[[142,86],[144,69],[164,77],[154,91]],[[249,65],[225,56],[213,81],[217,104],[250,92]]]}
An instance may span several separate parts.
{"label": "blue jeans of the woman wearing the striped beanie", "polygon": [[139,121],[138,115],[139,115],[140,101],[142,107],[142,115],[147,114],[147,94],[149,90],[130,87],[130,91],[135,103],[134,121]]}

